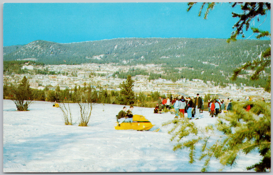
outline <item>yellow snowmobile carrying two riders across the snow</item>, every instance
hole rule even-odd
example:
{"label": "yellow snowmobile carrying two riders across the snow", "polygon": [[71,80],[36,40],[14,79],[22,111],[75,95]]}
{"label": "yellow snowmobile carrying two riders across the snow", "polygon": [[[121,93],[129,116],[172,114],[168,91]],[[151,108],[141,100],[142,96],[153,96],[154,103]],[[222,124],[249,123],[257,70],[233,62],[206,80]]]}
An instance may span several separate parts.
{"label": "yellow snowmobile carrying two riders across the snow", "polygon": [[[119,124],[119,122],[117,121],[116,123],[117,125],[115,126],[115,129],[134,129],[139,131],[149,130],[154,126],[143,115],[133,115],[133,122],[122,122]],[[159,129],[157,129],[157,131],[158,130]]]}

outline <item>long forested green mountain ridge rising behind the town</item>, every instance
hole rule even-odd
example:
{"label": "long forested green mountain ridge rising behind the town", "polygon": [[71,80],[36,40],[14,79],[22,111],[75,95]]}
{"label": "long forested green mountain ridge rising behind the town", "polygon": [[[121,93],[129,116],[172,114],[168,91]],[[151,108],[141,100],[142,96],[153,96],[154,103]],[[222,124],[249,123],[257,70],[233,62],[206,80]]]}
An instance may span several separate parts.
{"label": "long forested green mountain ridge rising behind the town", "polygon": [[[236,67],[257,58],[269,46],[270,40],[248,39],[231,43],[226,39],[208,38],[117,38],[79,43],[37,40],[24,46],[4,47],[3,57],[4,61],[32,60],[45,64],[154,63],[165,67],[164,74],[140,71],[141,74],[149,74],[150,79],[161,77],[174,82],[180,78],[198,78],[226,86],[232,83],[229,78]],[[175,69],[178,67],[180,70]],[[126,78],[123,72],[115,74]],[[258,81],[248,82],[249,77],[244,76],[233,83],[264,87],[270,74],[270,68],[266,68]]]}

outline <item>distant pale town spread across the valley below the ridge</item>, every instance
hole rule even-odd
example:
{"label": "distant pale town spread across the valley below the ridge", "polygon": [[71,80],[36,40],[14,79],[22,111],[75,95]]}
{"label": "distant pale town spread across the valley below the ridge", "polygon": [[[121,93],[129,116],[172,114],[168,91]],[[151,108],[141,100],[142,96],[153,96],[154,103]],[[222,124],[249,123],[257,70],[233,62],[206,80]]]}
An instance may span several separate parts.
{"label": "distant pale town spread across the valley below the ridge", "polygon": [[[23,76],[26,76],[29,80],[31,88],[43,90],[45,87],[50,90],[55,90],[57,86],[61,90],[68,88],[72,90],[75,86],[84,87],[91,85],[95,88],[103,87],[109,91],[119,91],[119,85],[125,79],[120,79],[117,76],[113,76],[116,71],[126,72],[129,69],[141,69],[147,70],[147,72],[153,72],[160,74],[160,65],[147,64],[136,66],[117,66],[114,63],[108,64],[96,64],[86,63],[80,65],[32,65],[28,62],[22,67],[24,70],[28,70],[27,74],[5,74],[4,81],[21,80]],[[35,74],[34,70],[45,70],[60,72],[57,75],[42,75]],[[233,98],[237,100],[243,100],[251,97],[253,100],[265,98],[266,101],[270,101],[271,94],[265,92],[263,88],[254,87],[237,87],[236,85],[229,84],[225,88],[214,86],[213,82],[207,81],[204,83],[202,80],[193,79],[192,81],[180,79],[176,82],[167,81],[165,79],[149,80],[149,76],[136,75],[132,77],[134,82],[133,91],[138,94],[139,92],[153,92],[158,91],[161,94],[173,94],[173,96],[196,96],[199,93],[201,96],[205,94],[218,95],[221,99]]]}

